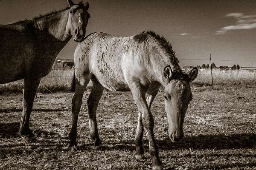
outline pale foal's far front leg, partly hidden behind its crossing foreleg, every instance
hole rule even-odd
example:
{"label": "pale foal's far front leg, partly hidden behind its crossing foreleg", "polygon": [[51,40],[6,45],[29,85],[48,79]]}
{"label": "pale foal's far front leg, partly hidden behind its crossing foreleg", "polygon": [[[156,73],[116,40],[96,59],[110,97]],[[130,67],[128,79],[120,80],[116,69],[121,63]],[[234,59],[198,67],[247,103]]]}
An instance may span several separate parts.
{"label": "pale foal's far front leg, partly hidden behind its crossing foreleg", "polygon": [[[151,84],[146,92],[146,100],[147,100],[149,109],[151,108],[151,104],[158,93],[159,87],[160,87],[159,84]],[[136,159],[139,159],[139,160],[144,158],[143,132],[144,132],[143,122],[142,122],[141,114],[139,114],[138,125],[137,125],[136,135],[134,139],[135,146],[136,146],[135,157]]]}

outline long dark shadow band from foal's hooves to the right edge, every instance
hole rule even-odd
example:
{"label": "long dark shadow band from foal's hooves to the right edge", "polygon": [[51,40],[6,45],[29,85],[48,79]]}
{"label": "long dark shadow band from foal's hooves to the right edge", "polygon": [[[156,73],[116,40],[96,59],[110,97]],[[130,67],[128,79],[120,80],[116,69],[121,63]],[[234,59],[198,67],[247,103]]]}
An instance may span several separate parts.
{"label": "long dark shadow band from foal's hooves to the right edge", "polygon": [[[133,140],[126,140],[120,142],[103,142],[102,150],[135,150]],[[144,149],[148,151],[148,140],[143,140]],[[187,136],[182,142],[173,143],[168,138],[158,140],[157,145],[160,150],[170,149],[242,149],[255,148],[256,149],[256,134],[255,133],[238,133],[231,135],[199,135]],[[87,150],[93,147],[92,143],[83,144],[80,149]]]}

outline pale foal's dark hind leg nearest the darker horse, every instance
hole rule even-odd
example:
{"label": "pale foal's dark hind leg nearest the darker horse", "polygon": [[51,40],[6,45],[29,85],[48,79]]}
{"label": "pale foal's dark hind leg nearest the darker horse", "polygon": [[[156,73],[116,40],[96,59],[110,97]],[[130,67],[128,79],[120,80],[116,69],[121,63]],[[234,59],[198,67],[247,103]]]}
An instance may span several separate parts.
{"label": "pale foal's dark hind leg nearest the darker horse", "polygon": [[81,86],[79,83],[76,83],[76,91],[72,99],[72,126],[69,133],[70,145],[68,147],[70,152],[74,152],[77,150],[77,143],[76,143],[77,121],[78,121],[80,108],[82,105],[82,99],[83,99],[85,87]]}

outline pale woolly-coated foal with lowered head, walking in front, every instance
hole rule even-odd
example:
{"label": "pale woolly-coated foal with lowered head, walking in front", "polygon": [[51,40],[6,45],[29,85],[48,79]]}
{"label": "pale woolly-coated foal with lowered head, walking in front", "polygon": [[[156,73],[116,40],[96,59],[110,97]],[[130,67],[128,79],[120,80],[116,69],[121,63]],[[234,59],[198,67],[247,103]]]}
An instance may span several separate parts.
{"label": "pale woolly-coated foal with lowered head, walking in front", "polygon": [[189,102],[192,99],[190,82],[198,74],[193,68],[183,73],[172,46],[165,38],[154,32],[143,32],[131,37],[116,37],[105,33],[93,33],[76,47],[75,94],[72,100],[72,127],[70,130],[70,151],[77,148],[77,120],[84,90],[91,80],[93,87],[87,100],[90,137],[99,147],[101,141],[96,121],[96,110],[104,88],[110,91],[131,90],[139,110],[135,135],[136,159],[143,159],[143,132],[148,133],[149,153],[152,168],[163,168],[154,139],[154,118],[151,104],[161,85],[165,88],[165,110],[172,142],[184,137],[183,122]]}

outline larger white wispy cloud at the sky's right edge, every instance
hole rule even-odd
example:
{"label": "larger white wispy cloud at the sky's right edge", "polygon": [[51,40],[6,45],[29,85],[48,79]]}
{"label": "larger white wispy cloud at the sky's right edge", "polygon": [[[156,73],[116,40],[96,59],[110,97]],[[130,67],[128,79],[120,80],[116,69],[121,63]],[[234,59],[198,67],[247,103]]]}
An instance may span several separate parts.
{"label": "larger white wispy cloud at the sky's right edge", "polygon": [[244,15],[242,13],[230,13],[226,14],[226,17],[236,18],[236,24],[231,26],[225,26],[220,30],[216,31],[215,35],[225,34],[230,30],[240,30],[240,29],[253,29],[256,28],[256,15]]}

